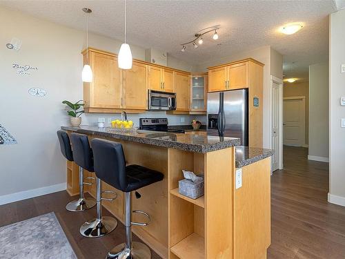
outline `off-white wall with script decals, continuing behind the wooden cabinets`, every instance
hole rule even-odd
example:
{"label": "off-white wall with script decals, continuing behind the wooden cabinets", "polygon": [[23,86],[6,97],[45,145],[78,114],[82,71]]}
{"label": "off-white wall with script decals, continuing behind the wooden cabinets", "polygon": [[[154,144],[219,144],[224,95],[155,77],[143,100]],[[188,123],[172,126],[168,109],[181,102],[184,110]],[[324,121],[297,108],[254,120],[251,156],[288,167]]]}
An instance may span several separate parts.
{"label": "off-white wall with script decals, continuing behind the wooden cabinets", "polygon": [[[60,153],[56,131],[69,122],[61,101],[83,97],[80,52],[86,42],[83,31],[4,8],[0,8],[0,31],[0,124],[18,141],[18,144],[0,145],[1,204],[65,188],[66,160]],[[23,41],[19,52],[6,48],[13,37]],[[120,45],[120,41],[89,35],[89,46],[95,48],[117,53]],[[132,45],[131,48],[133,57],[145,59],[144,48]],[[17,75],[13,63],[39,69],[31,75]],[[186,66],[176,59],[172,63],[178,68]],[[43,88],[48,94],[33,97],[28,94],[32,87]],[[165,113],[130,115],[130,118],[137,124],[139,116],[158,115],[165,116]],[[95,124],[98,117],[103,115],[83,115],[83,124]],[[184,116],[185,122],[181,122],[176,116],[168,118],[171,124],[188,124],[193,119]],[[38,190],[11,195],[32,189]]]}

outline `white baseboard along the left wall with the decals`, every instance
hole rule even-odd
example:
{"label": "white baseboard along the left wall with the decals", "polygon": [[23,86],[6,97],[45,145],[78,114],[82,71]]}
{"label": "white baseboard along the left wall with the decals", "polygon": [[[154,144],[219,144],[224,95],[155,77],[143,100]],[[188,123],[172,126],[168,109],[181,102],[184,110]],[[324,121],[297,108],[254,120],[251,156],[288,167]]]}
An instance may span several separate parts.
{"label": "white baseboard along the left wall with the decals", "polygon": [[57,191],[66,190],[67,183],[63,182],[61,184],[55,184],[50,186],[45,186],[37,189],[31,189],[28,191],[20,191],[19,193],[10,193],[6,195],[0,196],[0,205],[8,204],[11,202],[17,202],[19,200],[26,200],[30,198],[34,198],[37,196],[49,194],[49,193],[56,193]]}

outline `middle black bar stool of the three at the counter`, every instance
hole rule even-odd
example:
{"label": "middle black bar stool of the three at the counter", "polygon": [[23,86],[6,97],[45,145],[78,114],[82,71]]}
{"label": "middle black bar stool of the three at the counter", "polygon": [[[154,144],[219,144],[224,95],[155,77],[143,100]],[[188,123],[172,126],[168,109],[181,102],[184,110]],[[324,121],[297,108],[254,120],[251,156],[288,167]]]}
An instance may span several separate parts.
{"label": "middle black bar stool of the three at the counter", "polygon": [[[95,172],[93,165],[93,155],[92,149],[88,142],[88,136],[81,135],[78,133],[72,133],[70,135],[70,140],[72,142],[73,148],[73,157],[75,163],[79,165],[82,169],[86,169],[89,172]],[[114,200],[116,198],[102,198],[102,193],[114,193],[112,191],[102,191],[101,189],[101,180],[97,178],[97,193],[96,193],[96,202],[97,202],[97,218],[88,220],[80,227],[81,235],[86,238],[99,238],[110,233],[117,227],[117,220],[113,217],[102,217],[101,215],[101,201],[102,200]]]}

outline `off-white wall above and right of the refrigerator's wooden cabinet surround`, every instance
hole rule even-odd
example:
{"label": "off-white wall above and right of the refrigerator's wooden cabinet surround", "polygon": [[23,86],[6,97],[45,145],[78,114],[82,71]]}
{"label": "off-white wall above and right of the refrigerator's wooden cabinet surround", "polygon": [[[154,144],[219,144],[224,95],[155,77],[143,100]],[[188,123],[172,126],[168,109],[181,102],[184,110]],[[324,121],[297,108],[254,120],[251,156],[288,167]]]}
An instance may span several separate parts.
{"label": "off-white wall above and right of the refrigerator's wooden cabinet surround", "polygon": [[[226,53],[221,59],[215,59],[208,61],[197,66],[199,71],[207,71],[210,66],[216,66],[219,64],[226,64],[231,61],[239,59],[246,59],[253,57],[265,64],[264,66],[264,100],[263,104],[263,144],[264,148],[270,148],[270,75],[274,75],[280,79],[283,78],[283,56],[270,48],[270,46],[264,46],[249,50],[246,52],[239,52],[236,55],[228,56]],[[271,65],[272,62],[272,65]],[[273,74],[272,74],[273,73]]]}

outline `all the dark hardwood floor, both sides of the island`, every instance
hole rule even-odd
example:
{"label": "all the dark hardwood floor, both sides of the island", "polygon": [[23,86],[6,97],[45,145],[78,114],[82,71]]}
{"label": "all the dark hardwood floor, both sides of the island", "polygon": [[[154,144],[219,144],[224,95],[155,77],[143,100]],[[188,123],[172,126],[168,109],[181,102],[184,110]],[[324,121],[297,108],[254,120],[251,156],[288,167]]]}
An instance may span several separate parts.
{"label": "all the dark hardwood floor, both sides of the island", "polygon": [[[345,208],[327,202],[328,163],[309,161],[307,153],[307,148],[284,147],[284,170],[273,173],[269,259],[345,258]],[[61,191],[2,205],[0,227],[54,211],[78,258],[104,258],[108,250],[124,242],[120,222],[108,236],[83,238],[79,227],[96,215],[95,208],[68,212],[65,206],[70,200]],[[103,209],[103,215],[109,214]],[[159,256],[152,253],[152,258]]]}

